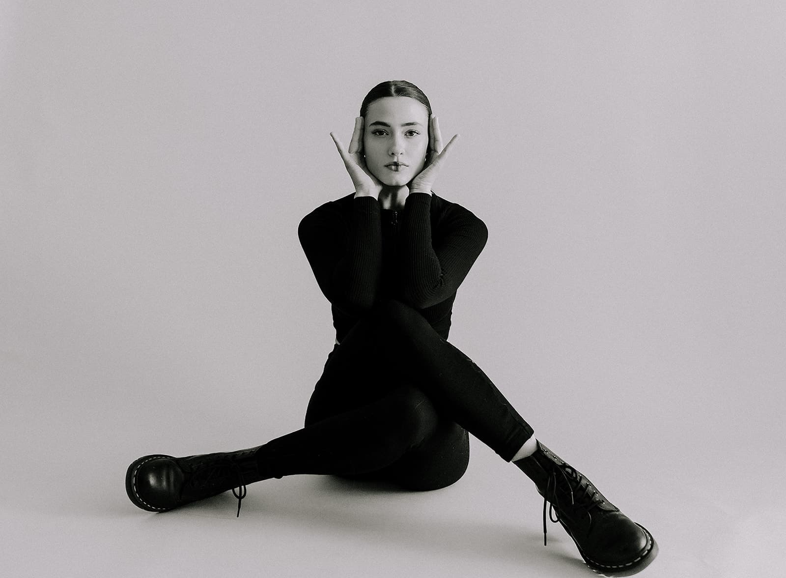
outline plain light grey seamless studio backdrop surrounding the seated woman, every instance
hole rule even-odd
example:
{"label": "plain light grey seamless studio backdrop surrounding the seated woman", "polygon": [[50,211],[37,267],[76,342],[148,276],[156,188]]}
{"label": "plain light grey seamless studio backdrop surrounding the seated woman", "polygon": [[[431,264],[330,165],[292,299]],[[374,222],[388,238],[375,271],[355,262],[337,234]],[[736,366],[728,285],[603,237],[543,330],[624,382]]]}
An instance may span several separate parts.
{"label": "plain light grey seamless studio backdrop surrounding the seated woman", "polygon": [[[207,523],[145,514],[123,490],[139,455],[299,427],[334,333],[296,228],[352,190],[329,131],[348,143],[365,92],[408,79],[462,137],[436,192],[490,230],[450,341],[660,537],[652,576],[774,569],[784,24],[780,2],[0,2],[4,566],[156,576],[267,558],[277,576],[459,576],[504,558],[457,561],[423,528],[413,554],[396,539],[417,523],[364,549],[358,514],[314,561],[300,550],[336,524],[299,528],[357,499],[316,480],[249,488],[240,521],[219,499]],[[467,480],[441,494],[465,492],[451,507],[475,503],[476,523],[526,493],[521,543],[554,564],[533,575],[584,575],[565,568],[558,525],[565,559],[538,546],[531,483],[472,448]],[[288,543],[265,542],[270,522],[253,555],[221,541],[248,540],[275,484],[314,500],[302,519],[279,513]],[[452,539],[523,547],[482,536]],[[406,562],[385,558],[402,548]]]}

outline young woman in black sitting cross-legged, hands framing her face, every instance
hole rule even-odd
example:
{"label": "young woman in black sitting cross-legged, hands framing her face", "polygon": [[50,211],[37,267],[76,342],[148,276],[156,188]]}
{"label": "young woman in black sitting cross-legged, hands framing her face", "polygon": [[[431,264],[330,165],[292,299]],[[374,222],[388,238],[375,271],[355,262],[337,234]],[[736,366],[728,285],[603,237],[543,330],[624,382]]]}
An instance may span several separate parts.
{"label": "young woman in black sitting cross-legged, hands framing her face", "polygon": [[652,535],[536,440],[447,341],[456,291],[487,241],[483,221],[432,192],[458,135],[443,148],[426,95],[388,81],[366,95],[348,149],[331,136],[354,193],[298,228],[336,327],[305,427],[247,450],[138,458],[126,476],[131,502],[163,512],[231,489],[240,515],[245,484],[303,473],[444,488],[467,468],[469,432],[534,481],[544,543],[548,501],[591,568],[645,568],[658,551]]}

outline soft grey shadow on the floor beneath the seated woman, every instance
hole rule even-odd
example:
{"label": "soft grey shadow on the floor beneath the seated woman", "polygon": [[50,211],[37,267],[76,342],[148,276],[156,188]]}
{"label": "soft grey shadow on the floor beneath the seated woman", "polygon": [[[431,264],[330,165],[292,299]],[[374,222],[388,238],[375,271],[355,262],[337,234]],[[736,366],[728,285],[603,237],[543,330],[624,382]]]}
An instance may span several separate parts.
{"label": "soft grey shadow on the floor beneath the seated woman", "polygon": [[[270,484],[270,491],[263,491],[264,484]],[[564,576],[572,573],[571,567],[589,570],[561,528],[549,531],[544,547],[539,518],[494,521],[484,514],[483,503],[461,501],[461,491],[445,506],[444,494],[435,499],[432,491],[409,491],[384,480],[288,477],[264,484],[254,484],[256,491],[243,500],[237,529],[244,536],[252,532],[264,540],[277,528],[302,528],[303,543],[320,535],[338,536],[354,547],[384,544],[407,555],[507,564],[517,575],[523,569],[532,576]],[[171,512],[142,514],[142,525],[180,525],[186,517],[230,521],[236,513],[237,499],[227,491]]]}

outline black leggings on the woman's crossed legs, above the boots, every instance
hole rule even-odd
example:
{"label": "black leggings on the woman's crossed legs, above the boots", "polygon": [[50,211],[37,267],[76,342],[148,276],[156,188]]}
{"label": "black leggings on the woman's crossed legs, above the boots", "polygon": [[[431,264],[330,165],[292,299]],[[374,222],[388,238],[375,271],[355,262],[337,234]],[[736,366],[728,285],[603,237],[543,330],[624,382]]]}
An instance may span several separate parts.
{"label": "black leggings on the woman's crossed legs, above the boots", "polygon": [[453,484],[467,430],[510,461],[533,434],[472,359],[412,307],[382,300],[329,353],[303,429],[257,452],[262,479],[296,473]]}

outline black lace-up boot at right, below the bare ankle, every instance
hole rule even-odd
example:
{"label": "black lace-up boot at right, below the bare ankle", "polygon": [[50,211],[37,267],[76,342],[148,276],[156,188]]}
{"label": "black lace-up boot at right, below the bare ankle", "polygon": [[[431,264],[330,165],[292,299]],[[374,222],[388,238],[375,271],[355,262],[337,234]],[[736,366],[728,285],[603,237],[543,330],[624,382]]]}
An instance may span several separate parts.
{"label": "black lace-up boot at right, below the bare ankle", "polygon": [[538,441],[534,454],[514,463],[543,496],[544,544],[548,501],[549,518],[560,522],[576,543],[578,553],[596,572],[629,576],[655,559],[658,544],[652,534],[620,512],[581,472],[548,447]]}

